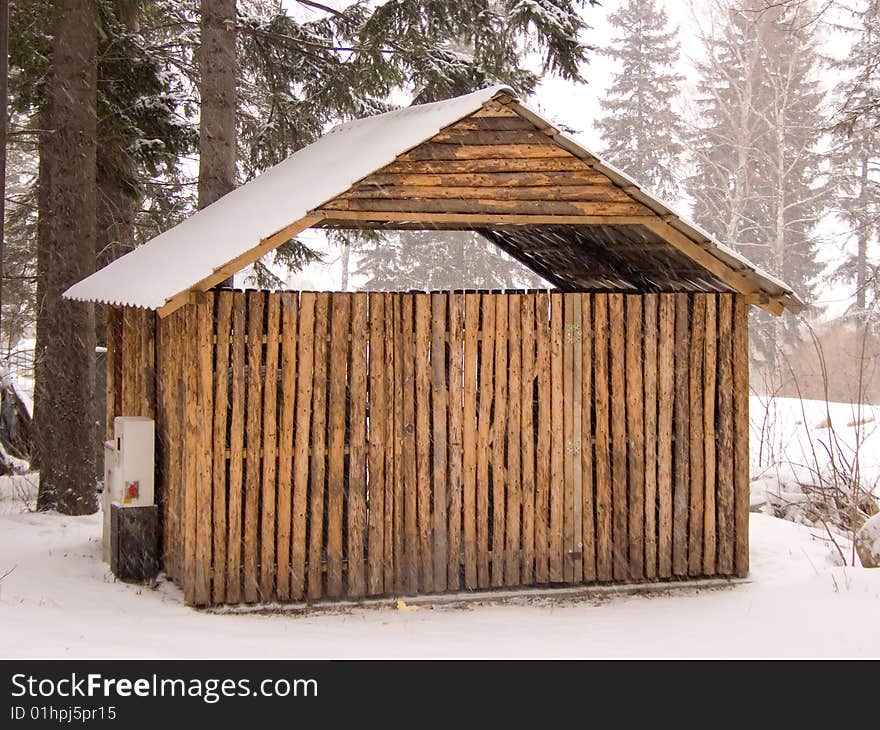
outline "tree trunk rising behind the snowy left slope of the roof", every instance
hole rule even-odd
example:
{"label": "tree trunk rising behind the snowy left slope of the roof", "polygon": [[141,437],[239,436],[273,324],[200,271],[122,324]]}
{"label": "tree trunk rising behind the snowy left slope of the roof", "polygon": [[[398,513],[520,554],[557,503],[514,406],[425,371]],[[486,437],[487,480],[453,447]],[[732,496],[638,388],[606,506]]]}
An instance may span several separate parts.
{"label": "tree trunk rising behind the snowy left slope of the roof", "polygon": [[[201,0],[199,208],[235,187],[235,0]],[[232,277],[223,282],[232,285]]]}

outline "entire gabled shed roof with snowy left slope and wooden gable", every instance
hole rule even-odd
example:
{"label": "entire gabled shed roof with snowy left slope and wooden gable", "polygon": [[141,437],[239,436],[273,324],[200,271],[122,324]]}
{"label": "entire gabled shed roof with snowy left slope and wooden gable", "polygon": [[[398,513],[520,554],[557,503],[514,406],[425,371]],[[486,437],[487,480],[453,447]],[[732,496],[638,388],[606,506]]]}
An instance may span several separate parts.
{"label": "entire gabled shed roof with snowy left slope and wooden gable", "polygon": [[803,307],[503,87],[342,125],[65,296],[165,314],[309,227],[476,230],[563,290]]}

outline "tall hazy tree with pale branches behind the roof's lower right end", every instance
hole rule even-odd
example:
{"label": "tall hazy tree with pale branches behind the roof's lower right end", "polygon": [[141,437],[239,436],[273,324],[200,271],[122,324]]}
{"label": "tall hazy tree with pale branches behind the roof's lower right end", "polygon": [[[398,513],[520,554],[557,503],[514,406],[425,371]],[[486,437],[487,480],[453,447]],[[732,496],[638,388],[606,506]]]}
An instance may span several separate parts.
{"label": "tall hazy tree with pale branches behind the roof's lower right end", "polygon": [[[809,301],[821,270],[815,227],[827,202],[814,26],[798,17],[803,4],[760,12],[748,2],[714,8],[720,12],[715,34],[704,38],[703,124],[688,180],[694,217]],[[755,351],[771,370],[796,328],[789,316],[756,316]]]}

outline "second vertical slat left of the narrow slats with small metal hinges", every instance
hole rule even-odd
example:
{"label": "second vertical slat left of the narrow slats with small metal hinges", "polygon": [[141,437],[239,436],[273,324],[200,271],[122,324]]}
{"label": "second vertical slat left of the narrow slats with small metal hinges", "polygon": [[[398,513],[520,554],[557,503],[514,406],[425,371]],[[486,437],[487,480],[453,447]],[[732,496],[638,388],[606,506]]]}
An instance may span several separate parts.
{"label": "second vertical slat left of the narrow slats with small metal hinges", "polygon": [[538,432],[535,469],[535,580],[550,581],[550,295],[535,302],[535,370],[538,382]]}

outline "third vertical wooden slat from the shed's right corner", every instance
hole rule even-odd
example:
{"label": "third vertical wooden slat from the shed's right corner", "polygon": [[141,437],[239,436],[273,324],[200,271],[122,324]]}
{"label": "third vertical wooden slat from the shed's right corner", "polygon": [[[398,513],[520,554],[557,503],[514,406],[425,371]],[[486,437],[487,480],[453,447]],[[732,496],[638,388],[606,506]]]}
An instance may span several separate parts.
{"label": "third vertical wooden slat from the shed's right corner", "polygon": [[706,296],[706,344],[703,356],[703,464],[705,491],[703,497],[703,572],[715,574],[715,378],[718,366],[716,316],[717,297]]}

